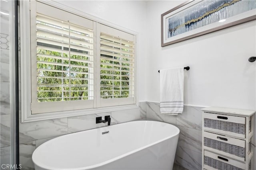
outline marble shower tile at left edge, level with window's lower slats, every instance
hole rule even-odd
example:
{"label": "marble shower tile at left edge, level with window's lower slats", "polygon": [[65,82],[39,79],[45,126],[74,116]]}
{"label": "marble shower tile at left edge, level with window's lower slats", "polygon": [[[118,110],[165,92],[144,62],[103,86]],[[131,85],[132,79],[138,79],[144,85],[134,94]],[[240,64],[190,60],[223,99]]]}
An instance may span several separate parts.
{"label": "marble shower tile at left edge, level with window's lower slats", "polygon": [[0,82],[0,114],[10,114],[10,82]]}

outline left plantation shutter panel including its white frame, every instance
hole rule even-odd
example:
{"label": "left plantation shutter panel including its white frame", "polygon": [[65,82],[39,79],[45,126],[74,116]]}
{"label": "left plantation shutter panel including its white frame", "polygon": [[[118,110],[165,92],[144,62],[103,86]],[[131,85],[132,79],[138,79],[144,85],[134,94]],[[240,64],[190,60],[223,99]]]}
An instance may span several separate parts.
{"label": "left plantation shutter panel including its white frame", "polygon": [[92,21],[36,3],[36,49],[32,54],[32,64],[36,64],[33,73],[36,79],[32,81],[36,84],[36,95],[32,100],[32,114],[92,108]]}

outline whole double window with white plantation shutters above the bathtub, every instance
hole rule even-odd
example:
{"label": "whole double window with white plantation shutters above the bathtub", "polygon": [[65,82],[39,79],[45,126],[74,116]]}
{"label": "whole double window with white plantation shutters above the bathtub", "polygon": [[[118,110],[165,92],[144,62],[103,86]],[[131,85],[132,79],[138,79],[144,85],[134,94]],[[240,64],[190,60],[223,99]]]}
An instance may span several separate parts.
{"label": "whole double window with white plantation shutters above the bathtub", "polygon": [[135,35],[30,3],[30,116],[136,104]]}

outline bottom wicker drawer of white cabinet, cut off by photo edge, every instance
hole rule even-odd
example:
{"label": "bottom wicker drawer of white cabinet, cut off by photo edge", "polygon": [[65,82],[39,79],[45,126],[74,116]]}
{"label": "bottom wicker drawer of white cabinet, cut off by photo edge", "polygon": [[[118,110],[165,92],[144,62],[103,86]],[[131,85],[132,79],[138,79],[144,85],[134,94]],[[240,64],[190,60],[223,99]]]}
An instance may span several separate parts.
{"label": "bottom wicker drawer of white cabinet, cut off by photo edge", "polygon": [[204,150],[204,167],[209,170],[245,170],[245,163]]}

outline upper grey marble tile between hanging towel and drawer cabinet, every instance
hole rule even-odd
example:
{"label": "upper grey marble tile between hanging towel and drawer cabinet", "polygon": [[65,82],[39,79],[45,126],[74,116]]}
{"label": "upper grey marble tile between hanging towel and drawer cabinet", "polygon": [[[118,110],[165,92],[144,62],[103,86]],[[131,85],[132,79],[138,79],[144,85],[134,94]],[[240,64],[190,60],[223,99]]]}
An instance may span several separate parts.
{"label": "upper grey marble tile between hanging towel and drawer cabinet", "polygon": [[202,130],[202,107],[184,106],[183,113],[177,115],[177,125]]}

